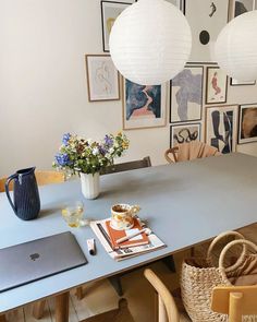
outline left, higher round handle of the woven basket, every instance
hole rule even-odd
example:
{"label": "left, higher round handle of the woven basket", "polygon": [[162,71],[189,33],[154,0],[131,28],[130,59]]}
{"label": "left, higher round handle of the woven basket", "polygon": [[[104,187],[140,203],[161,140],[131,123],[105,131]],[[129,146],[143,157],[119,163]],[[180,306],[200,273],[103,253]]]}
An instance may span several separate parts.
{"label": "left, higher round handle of the woven basket", "polygon": [[[217,245],[220,240],[222,240],[223,238],[229,237],[229,236],[235,236],[235,237],[238,237],[238,239],[245,239],[244,236],[243,236],[242,234],[240,234],[240,232],[237,232],[237,231],[232,231],[232,230],[231,230],[231,231],[228,230],[228,231],[224,231],[224,232],[221,232],[220,235],[218,235],[218,236],[211,241],[211,243],[210,243],[210,246],[209,246],[209,248],[208,248],[208,251],[207,251],[207,259],[206,259],[206,260],[207,260],[207,263],[208,263],[209,265],[213,266],[213,259],[212,259],[212,251],[213,251],[213,248],[216,247],[216,245]],[[238,258],[237,261],[243,260],[243,258],[245,257],[245,254],[246,254],[246,246],[243,245],[243,251],[242,251],[241,257]],[[235,269],[241,264],[241,262],[237,264],[237,261],[236,261],[236,263],[235,263],[234,265],[232,265],[232,266],[230,266],[230,267],[227,267],[227,269],[225,269],[225,272],[231,272],[231,271],[235,270]]]}

